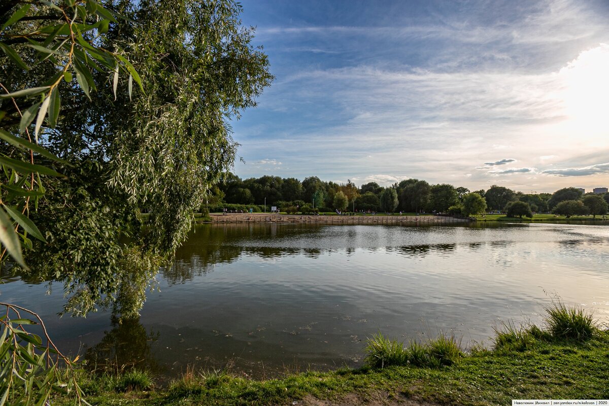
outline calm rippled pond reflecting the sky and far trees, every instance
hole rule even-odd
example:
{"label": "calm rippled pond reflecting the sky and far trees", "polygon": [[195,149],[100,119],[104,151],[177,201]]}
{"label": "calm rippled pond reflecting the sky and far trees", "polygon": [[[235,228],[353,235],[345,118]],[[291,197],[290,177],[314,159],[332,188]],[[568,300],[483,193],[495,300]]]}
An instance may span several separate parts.
{"label": "calm rippled pond reflecting the sky and far trees", "polygon": [[18,278],[0,300],[40,313],[90,366],[255,377],[359,366],[365,340],[454,334],[492,345],[560,298],[609,320],[609,226],[200,225],[160,270],[139,320],[63,317],[61,287]]}

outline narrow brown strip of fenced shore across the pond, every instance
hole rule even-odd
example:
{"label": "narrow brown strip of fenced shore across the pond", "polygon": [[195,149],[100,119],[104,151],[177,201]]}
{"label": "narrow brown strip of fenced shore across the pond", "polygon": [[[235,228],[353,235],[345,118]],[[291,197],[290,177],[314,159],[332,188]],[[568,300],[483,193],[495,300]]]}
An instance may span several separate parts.
{"label": "narrow brown strip of fenced shore across the pond", "polygon": [[213,223],[431,224],[468,222],[438,215],[210,214]]}

